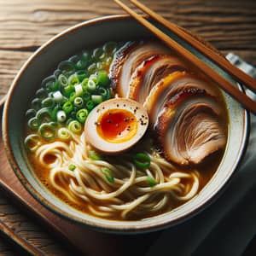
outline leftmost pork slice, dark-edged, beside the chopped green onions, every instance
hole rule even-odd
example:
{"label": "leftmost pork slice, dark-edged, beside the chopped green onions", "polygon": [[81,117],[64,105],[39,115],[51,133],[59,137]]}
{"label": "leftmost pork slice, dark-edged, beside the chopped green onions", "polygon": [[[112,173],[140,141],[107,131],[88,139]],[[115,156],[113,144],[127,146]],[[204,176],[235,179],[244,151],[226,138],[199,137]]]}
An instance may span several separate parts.
{"label": "leftmost pork slice, dark-edged, beside the chopped green onions", "polygon": [[131,75],[136,68],[149,57],[168,55],[171,49],[154,41],[129,42],[115,54],[110,67],[110,79],[120,97],[128,97]]}

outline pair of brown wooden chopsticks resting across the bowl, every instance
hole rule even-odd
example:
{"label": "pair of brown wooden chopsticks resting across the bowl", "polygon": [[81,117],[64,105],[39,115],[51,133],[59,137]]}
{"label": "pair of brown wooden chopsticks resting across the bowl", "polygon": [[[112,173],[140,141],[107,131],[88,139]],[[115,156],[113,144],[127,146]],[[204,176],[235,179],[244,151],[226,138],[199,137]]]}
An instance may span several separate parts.
{"label": "pair of brown wooden chopsticks resting across the bowl", "polygon": [[[122,3],[119,0],[113,0],[115,3],[140,22],[143,26],[147,27],[148,30],[161,41],[163,41],[167,46],[174,49],[177,54],[182,55],[184,59],[189,61],[195,67],[201,70],[202,73],[206,74],[210,79],[218,84],[219,87],[224,89],[230,96],[234,97],[236,101],[240,102],[244,108],[250,110],[253,113],[256,113],[256,102],[249,98],[246,94],[238,90],[233,84],[224,79],[220,74],[209,67],[205,62],[198,59],[195,55],[189,52],[188,49],[184,49],[182,45],[177,44],[172,38],[167,36],[164,32],[161,32],[156,26],[152,25],[148,20],[144,19],[141,15],[138,15],[135,11],[130,9],[125,3]],[[249,77],[246,73],[241,72],[237,67],[233,66],[226,61],[223,57],[217,55],[212,49],[208,48],[206,45],[202,44],[199,40],[191,37],[186,32],[183,32],[181,28],[173,24],[172,22],[165,20],[160,15],[157,15],[151,9],[148,9],[142,3],[139,3],[136,0],[131,0],[131,3],[134,3],[139,9],[142,9],[145,13],[150,15],[154,20],[160,22],[160,24],[166,26],[170,31],[177,34],[179,38],[182,38],[184,41],[192,45],[195,49],[198,49],[203,55],[207,56],[208,59],[216,63],[219,67],[222,67],[225,72],[229,73],[233,78],[241,82],[243,85],[247,85],[251,90],[256,90],[256,80]]]}

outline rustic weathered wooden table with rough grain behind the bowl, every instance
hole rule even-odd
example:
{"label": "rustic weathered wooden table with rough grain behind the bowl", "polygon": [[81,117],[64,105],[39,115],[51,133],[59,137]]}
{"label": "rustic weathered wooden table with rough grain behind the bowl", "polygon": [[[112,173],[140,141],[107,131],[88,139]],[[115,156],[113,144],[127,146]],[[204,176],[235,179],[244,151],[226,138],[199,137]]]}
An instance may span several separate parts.
{"label": "rustic weathered wooden table with rough grain behind the bowl", "polygon": [[[168,20],[200,34],[224,54],[234,52],[256,66],[256,1],[143,0]],[[56,33],[81,21],[122,14],[112,1],[0,0],[0,99],[22,63]],[[0,192],[0,219],[21,237],[51,255],[67,255],[61,240]],[[255,241],[255,239],[254,239]],[[255,248],[250,244],[244,255]],[[255,252],[254,252],[255,253]],[[0,255],[14,255],[14,247],[0,239]]]}

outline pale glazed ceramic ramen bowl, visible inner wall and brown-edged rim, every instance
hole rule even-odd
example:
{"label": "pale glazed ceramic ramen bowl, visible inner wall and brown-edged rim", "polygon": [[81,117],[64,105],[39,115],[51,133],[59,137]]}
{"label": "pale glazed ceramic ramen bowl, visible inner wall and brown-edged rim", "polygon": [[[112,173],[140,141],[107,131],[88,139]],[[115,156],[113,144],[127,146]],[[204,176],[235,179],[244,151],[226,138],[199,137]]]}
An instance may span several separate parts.
{"label": "pale glazed ceramic ramen bowl, visible inner wall and brown-edged rim", "polygon": [[[197,55],[201,61],[205,61],[216,72],[230,80],[235,86],[239,86],[219,67],[195,49],[189,47],[183,40],[177,38],[172,32],[169,32],[169,35],[194,55]],[[195,213],[201,212],[218,197],[221,191],[224,191],[232,175],[236,172],[236,167],[247,144],[248,114],[238,102],[224,92],[224,102],[227,105],[229,115],[229,131],[224,156],[218,170],[198,195],[171,212],[142,220],[125,221],[97,218],[80,212],[61,201],[40,183],[38,177],[32,171],[23,143],[25,132],[24,113],[26,113],[29,102],[38,90],[41,81],[50,73],[53,73],[59,62],[82,49],[93,48],[108,41],[125,42],[131,39],[152,37],[146,28],[126,15],[85,21],[61,32],[40,47],[21,67],[11,85],[3,113],[3,141],[9,162],[23,186],[44,207],[63,218],[68,218],[96,230],[114,233],[140,233],[160,230],[179,224],[194,216]]]}

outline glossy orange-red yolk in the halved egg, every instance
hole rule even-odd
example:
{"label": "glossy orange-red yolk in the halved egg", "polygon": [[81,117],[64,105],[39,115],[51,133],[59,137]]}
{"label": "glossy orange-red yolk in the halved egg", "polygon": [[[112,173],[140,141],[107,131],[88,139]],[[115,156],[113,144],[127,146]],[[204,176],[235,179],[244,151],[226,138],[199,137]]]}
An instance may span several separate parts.
{"label": "glossy orange-red yolk in the halved egg", "polygon": [[125,143],[137,134],[137,119],[125,109],[109,109],[97,121],[97,133],[109,143]]}

